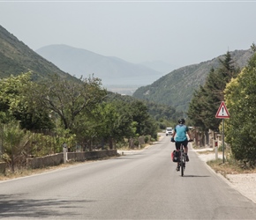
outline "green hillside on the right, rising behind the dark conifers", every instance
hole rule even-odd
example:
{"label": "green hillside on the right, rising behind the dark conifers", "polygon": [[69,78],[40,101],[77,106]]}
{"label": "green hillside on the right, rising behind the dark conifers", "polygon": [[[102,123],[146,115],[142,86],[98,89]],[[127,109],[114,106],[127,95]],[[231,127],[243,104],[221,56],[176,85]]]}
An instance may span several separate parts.
{"label": "green hillside on the right, rising behind the dark conifers", "polygon": [[[252,51],[235,50],[230,52],[237,67],[242,69],[252,56]],[[200,62],[171,71],[169,74],[159,78],[153,84],[139,87],[133,93],[137,99],[146,99],[158,104],[175,106],[177,111],[186,111],[192,99],[193,92],[204,84],[211,68],[217,69],[220,55],[210,61]]]}

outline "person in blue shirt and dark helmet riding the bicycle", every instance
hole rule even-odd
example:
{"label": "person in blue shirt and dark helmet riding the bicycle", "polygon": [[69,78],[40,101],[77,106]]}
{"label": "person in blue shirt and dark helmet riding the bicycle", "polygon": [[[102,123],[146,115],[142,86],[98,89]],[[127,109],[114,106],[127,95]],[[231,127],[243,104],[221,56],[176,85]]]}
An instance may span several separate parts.
{"label": "person in blue shirt and dark helmet riding the bicycle", "polygon": [[[189,136],[189,141],[192,141],[192,136],[189,132],[189,128],[185,125],[184,119],[178,120],[177,126],[174,128],[174,133],[171,137],[171,142],[175,142],[176,150],[180,150],[180,145],[183,144],[184,146],[184,155],[185,155],[185,160],[188,162],[188,139],[187,136]],[[179,164],[177,163],[177,171],[179,171]]]}

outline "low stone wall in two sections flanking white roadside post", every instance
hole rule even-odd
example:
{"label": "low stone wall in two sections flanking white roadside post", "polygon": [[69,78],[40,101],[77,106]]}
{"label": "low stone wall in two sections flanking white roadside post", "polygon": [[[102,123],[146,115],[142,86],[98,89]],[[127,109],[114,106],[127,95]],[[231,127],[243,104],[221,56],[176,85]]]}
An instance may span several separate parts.
{"label": "low stone wall in two sections flanking white roadside post", "polygon": [[[90,159],[99,159],[117,156],[117,150],[98,150],[87,152],[68,152],[68,160],[85,161]],[[49,165],[60,165],[64,163],[64,154],[59,153],[41,158],[27,158],[26,167],[31,169],[41,168]]]}

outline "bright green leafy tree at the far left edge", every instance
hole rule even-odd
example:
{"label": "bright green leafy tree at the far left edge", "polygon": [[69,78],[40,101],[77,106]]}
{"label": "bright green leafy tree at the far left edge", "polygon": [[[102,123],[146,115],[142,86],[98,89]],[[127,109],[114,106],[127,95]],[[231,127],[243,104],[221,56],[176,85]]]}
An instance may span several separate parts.
{"label": "bright green leafy tree at the far left edge", "polygon": [[49,113],[34,106],[31,72],[0,80],[0,121],[19,121],[21,128],[52,128]]}

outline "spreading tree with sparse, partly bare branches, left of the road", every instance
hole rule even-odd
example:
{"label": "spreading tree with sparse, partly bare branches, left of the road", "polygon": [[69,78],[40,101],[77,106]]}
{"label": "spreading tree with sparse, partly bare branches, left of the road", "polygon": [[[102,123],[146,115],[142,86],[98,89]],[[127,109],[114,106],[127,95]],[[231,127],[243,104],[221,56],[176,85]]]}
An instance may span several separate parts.
{"label": "spreading tree with sparse, partly bare branches, left of the road", "polygon": [[39,84],[34,93],[39,104],[48,108],[53,116],[58,116],[64,129],[70,130],[79,114],[84,111],[89,114],[106,95],[99,78],[89,77],[74,82],[58,75]]}

